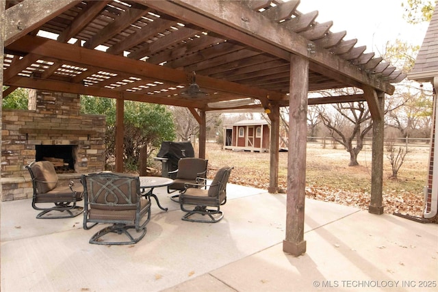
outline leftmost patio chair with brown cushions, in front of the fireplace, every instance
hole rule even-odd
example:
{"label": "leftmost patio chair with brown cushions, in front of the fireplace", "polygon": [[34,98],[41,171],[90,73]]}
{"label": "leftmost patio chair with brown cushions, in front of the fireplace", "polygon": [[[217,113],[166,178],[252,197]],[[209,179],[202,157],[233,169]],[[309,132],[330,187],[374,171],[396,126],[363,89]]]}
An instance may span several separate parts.
{"label": "leftmost patio chair with brown cushions, in front of the fireplace", "polygon": [[33,161],[26,168],[34,187],[32,207],[42,211],[36,215],[38,219],[70,218],[82,213],[83,207],[77,206],[82,200],[81,185],[73,188],[75,183],[70,181],[68,186],[59,186],[55,167],[50,161]]}

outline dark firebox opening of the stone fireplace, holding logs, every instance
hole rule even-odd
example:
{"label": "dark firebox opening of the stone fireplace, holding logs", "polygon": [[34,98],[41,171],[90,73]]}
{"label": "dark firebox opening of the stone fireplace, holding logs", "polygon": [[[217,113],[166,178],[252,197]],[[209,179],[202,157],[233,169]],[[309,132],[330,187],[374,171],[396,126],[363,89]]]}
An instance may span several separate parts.
{"label": "dark firebox opening of the stone fireplace, holding logs", "polygon": [[36,145],[35,150],[35,161],[50,161],[57,173],[75,172],[77,145]]}

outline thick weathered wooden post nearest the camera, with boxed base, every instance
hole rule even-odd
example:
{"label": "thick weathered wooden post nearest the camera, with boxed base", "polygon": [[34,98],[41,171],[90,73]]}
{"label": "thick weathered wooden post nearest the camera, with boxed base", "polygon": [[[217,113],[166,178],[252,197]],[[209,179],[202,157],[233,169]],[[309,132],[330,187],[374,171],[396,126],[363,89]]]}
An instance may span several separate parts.
{"label": "thick weathered wooden post nearest the camera, with boxed base", "polygon": [[292,55],[290,62],[289,150],[287,151],[286,238],[283,251],[306,252],[304,217],[306,197],[307,92],[309,60]]}

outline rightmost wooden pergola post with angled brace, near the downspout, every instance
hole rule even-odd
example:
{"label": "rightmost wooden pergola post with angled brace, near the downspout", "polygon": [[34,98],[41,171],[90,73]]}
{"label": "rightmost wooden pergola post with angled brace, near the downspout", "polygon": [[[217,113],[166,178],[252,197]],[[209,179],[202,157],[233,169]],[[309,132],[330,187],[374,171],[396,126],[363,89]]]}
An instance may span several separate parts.
{"label": "rightmost wooden pergola post with angled brace, near the downspout", "polygon": [[[385,106],[385,93],[377,94],[378,106],[383,113]],[[383,192],[383,138],[385,121],[383,116],[373,116],[372,124],[372,174],[371,174],[371,199],[368,212],[372,214],[383,214],[382,192]]]}

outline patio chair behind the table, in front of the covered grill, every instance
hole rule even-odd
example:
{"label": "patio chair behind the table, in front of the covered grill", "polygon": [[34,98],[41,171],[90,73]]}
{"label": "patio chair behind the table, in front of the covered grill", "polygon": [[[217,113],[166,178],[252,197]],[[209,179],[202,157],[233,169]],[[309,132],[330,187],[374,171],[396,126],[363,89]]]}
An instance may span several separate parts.
{"label": "patio chair behind the table, in front of the covered grill", "polygon": [[[167,192],[172,194],[175,191],[182,191],[185,188],[186,183],[199,187],[199,185],[205,187],[205,179],[207,178],[207,164],[208,160],[201,158],[182,158],[178,161],[178,169],[169,174],[177,174],[173,180],[172,185],[168,185]],[[179,202],[179,194],[170,196],[170,200]]]}

